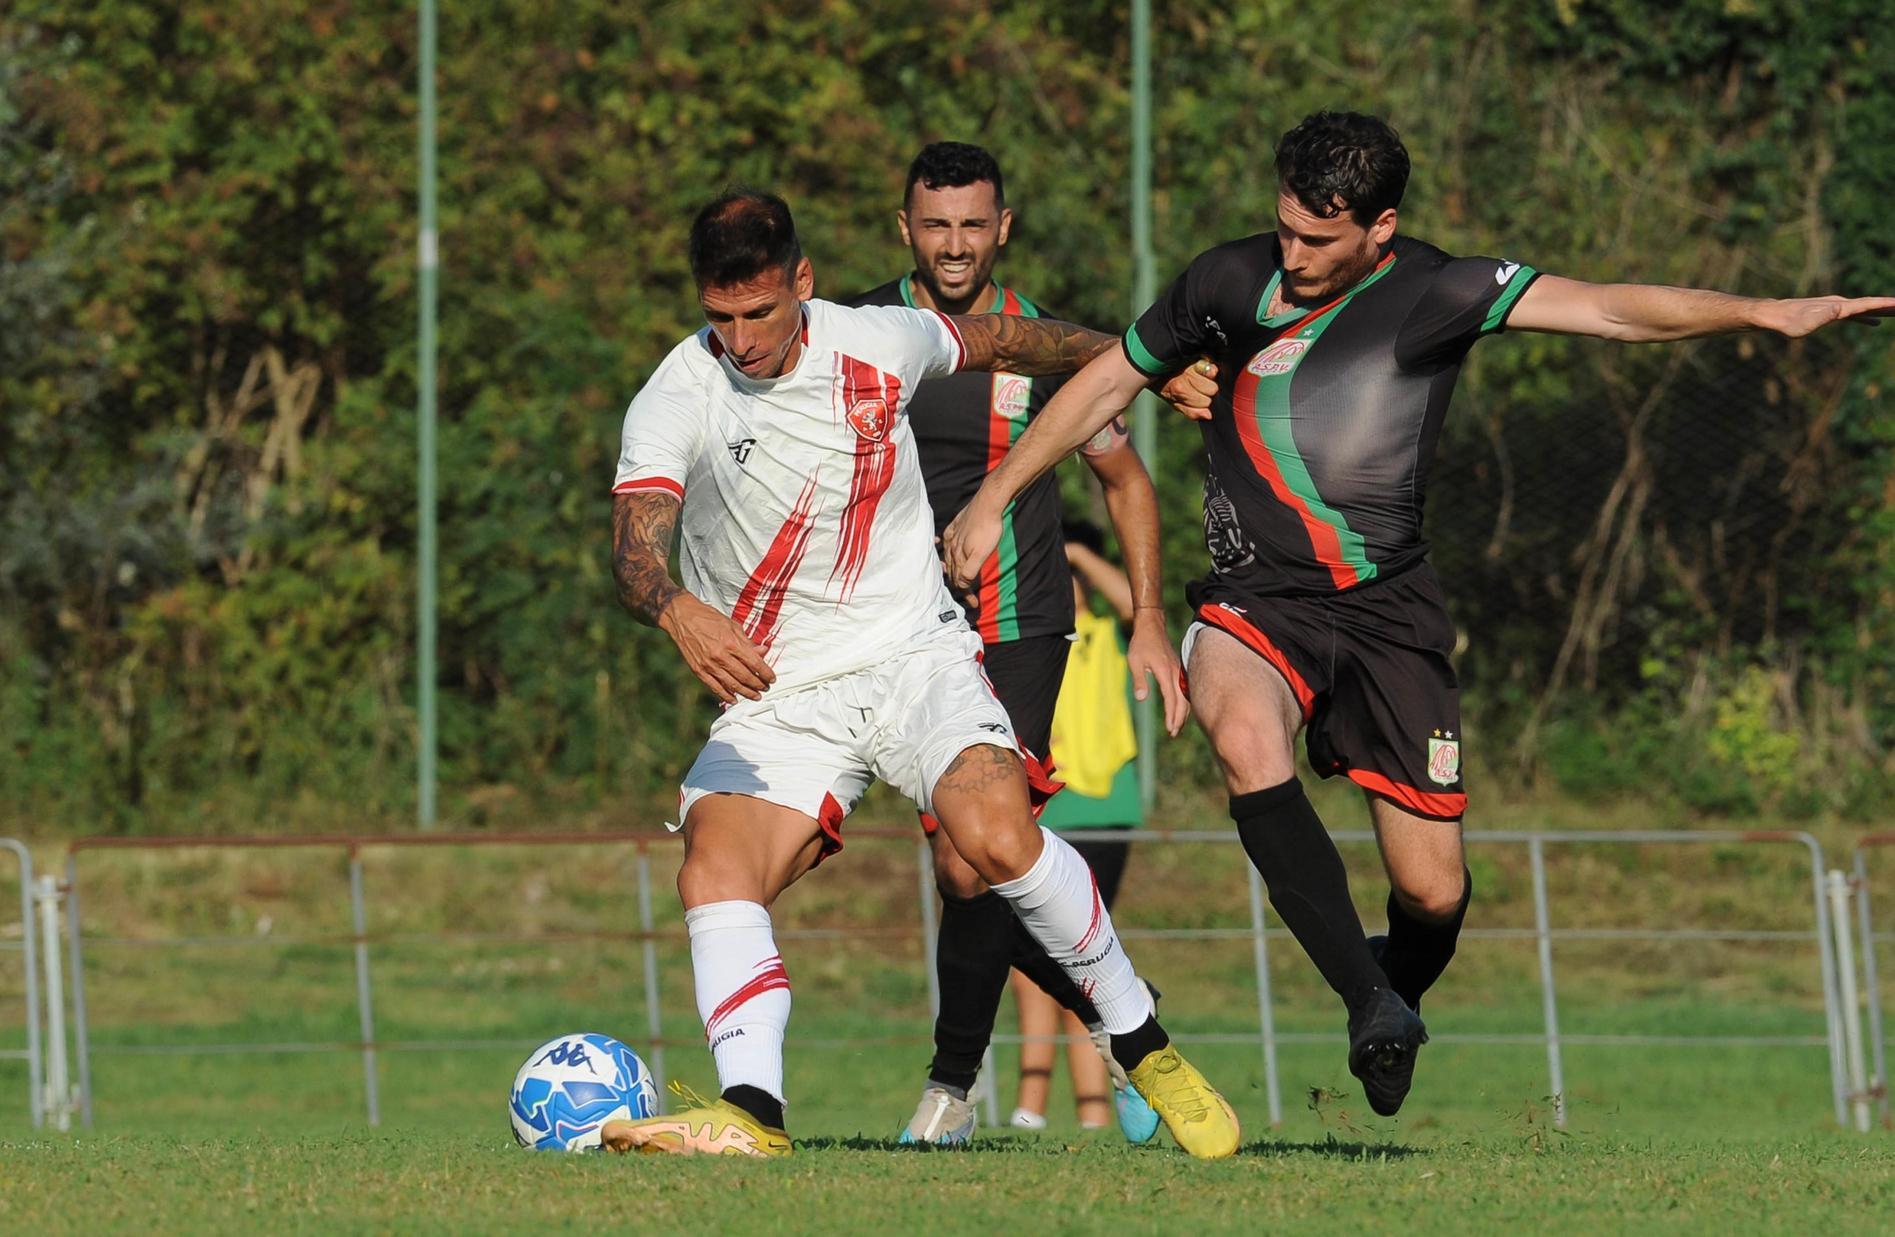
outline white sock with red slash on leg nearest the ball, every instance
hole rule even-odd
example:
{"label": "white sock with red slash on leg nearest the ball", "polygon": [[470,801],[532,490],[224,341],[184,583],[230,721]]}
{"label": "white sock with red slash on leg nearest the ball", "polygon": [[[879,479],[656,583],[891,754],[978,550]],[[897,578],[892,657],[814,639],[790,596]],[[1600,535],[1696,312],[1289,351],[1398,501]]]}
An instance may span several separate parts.
{"label": "white sock with red slash on leg nearest the ball", "polygon": [[781,1101],[790,976],[769,911],[758,902],[709,902],[684,911],[684,928],[718,1087],[752,1085]]}

